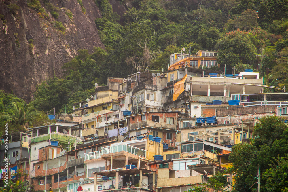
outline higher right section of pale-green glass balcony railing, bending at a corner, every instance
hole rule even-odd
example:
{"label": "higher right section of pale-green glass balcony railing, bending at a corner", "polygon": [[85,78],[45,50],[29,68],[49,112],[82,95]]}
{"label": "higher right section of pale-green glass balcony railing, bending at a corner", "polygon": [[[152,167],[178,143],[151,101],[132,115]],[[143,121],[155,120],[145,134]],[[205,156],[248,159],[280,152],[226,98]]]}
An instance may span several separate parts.
{"label": "higher right section of pale-green glass balcony railing, bending at a corner", "polygon": [[102,149],[107,150],[108,153],[116,153],[116,152],[126,151],[126,152],[132,153],[134,155],[146,157],[146,151],[145,150],[140,149],[138,147],[133,147],[133,146],[127,145],[127,144],[107,146],[107,147],[102,147]]}

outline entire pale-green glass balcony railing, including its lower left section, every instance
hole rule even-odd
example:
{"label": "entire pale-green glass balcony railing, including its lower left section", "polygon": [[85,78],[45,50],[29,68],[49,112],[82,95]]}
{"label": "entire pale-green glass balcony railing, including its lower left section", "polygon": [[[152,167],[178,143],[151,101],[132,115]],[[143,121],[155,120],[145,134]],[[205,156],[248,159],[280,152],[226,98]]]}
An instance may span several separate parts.
{"label": "entire pale-green glass balcony railing, including its lower left section", "polygon": [[146,151],[137,147],[133,147],[127,144],[113,145],[102,147],[101,151],[94,151],[90,153],[84,153],[84,161],[92,160],[92,159],[100,159],[101,155],[108,153],[116,153],[126,151],[128,153],[132,153],[134,155],[139,155],[141,157],[146,157]]}

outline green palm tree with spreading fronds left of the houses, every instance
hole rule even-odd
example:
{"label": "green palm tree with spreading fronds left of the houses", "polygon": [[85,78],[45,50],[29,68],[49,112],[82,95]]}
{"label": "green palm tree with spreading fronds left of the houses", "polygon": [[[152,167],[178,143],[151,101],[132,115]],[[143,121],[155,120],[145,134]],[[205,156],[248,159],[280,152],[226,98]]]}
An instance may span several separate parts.
{"label": "green palm tree with spreading fronds left of the houses", "polygon": [[12,102],[12,111],[14,112],[13,114],[7,112],[1,113],[0,118],[7,120],[7,123],[24,128],[24,130],[27,130],[32,125],[33,117],[38,114],[31,104],[20,102]]}

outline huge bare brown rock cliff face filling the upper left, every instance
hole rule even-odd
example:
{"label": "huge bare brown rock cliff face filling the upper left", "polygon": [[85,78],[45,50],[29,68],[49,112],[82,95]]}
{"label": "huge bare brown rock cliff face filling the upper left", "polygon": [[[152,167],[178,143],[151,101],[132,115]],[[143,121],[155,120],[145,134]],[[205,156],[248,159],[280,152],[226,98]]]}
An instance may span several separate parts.
{"label": "huge bare brown rock cliff face filling the upper left", "polygon": [[[0,89],[26,101],[41,81],[61,77],[63,63],[77,50],[104,48],[94,22],[101,13],[93,0],[83,0],[82,6],[77,0],[39,0],[46,16],[28,6],[36,1],[0,0]],[[58,12],[57,19],[47,2]],[[55,21],[62,22],[65,32]]]}

